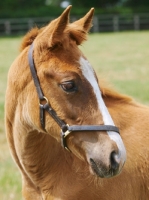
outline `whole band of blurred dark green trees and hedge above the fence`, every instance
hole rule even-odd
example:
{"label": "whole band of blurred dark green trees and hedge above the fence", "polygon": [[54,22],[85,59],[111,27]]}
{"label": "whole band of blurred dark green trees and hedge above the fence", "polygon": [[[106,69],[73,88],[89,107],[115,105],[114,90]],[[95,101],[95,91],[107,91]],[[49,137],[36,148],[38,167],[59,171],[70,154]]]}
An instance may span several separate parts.
{"label": "whole band of blurred dark green trees and hedge above the fence", "polygon": [[80,15],[95,7],[96,13],[148,12],[149,0],[0,0],[0,17],[38,17],[59,15],[67,5],[72,13]]}

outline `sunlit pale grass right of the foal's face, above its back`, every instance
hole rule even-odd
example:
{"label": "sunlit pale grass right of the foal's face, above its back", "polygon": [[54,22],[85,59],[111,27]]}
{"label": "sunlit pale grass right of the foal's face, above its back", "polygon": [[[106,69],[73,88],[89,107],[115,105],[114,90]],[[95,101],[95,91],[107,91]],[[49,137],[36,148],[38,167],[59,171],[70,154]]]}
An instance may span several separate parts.
{"label": "sunlit pale grass right of the foal's face, above its back", "polygon": [[118,91],[149,103],[149,32],[94,34],[82,50],[99,77]]}

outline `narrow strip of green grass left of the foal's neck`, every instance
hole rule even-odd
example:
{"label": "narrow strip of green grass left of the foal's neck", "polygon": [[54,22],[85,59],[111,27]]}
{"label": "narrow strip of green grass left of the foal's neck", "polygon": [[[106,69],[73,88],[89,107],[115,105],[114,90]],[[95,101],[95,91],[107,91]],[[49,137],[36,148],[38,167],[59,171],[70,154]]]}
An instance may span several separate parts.
{"label": "narrow strip of green grass left of the foal's neck", "polygon": [[18,54],[21,38],[0,38],[0,200],[21,199],[21,176],[4,133],[4,98],[8,69]]}

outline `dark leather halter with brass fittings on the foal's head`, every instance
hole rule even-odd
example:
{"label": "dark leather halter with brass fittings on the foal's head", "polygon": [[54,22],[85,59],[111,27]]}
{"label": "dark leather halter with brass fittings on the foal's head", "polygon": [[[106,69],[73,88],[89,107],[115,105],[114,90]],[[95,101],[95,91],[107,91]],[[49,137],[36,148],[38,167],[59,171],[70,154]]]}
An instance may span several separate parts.
{"label": "dark leather halter with brass fittings on the foal's head", "polygon": [[34,59],[33,59],[33,44],[30,46],[30,49],[29,49],[28,60],[29,60],[30,71],[31,71],[34,84],[37,90],[38,98],[39,98],[41,126],[45,130],[44,112],[47,111],[49,115],[51,115],[51,117],[57,122],[57,124],[61,128],[61,143],[65,149],[70,151],[66,144],[66,137],[71,132],[76,133],[80,131],[114,131],[114,132],[119,133],[119,129],[116,126],[112,126],[112,125],[71,125],[69,126],[63,120],[61,120],[56,114],[56,112],[50,106],[48,99],[44,96],[42,89],[40,87],[40,82],[37,76]]}

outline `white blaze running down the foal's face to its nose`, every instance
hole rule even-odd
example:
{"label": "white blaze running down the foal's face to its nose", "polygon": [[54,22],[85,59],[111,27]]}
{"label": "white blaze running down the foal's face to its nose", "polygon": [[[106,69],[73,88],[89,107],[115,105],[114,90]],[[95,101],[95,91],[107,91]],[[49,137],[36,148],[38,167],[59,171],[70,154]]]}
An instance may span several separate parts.
{"label": "white blaze running down the foal's face to its nose", "polygon": [[[99,89],[97,80],[95,78],[92,66],[90,65],[90,63],[87,60],[85,60],[83,57],[81,57],[80,58],[80,67],[81,67],[84,77],[88,80],[88,82],[91,84],[91,86],[94,90],[94,93],[96,95],[96,99],[98,102],[98,107],[99,107],[99,110],[103,117],[104,124],[114,126],[114,122],[111,118],[111,115],[109,114],[109,111],[103,101],[101,91]],[[107,131],[107,133],[108,133],[109,137],[111,138],[111,140],[114,140],[118,146],[119,159],[122,159],[123,161],[125,161],[126,160],[126,150],[125,150],[125,147],[124,147],[124,144],[123,144],[123,141],[122,141],[120,135],[113,131]]]}

